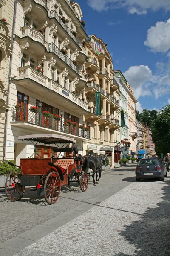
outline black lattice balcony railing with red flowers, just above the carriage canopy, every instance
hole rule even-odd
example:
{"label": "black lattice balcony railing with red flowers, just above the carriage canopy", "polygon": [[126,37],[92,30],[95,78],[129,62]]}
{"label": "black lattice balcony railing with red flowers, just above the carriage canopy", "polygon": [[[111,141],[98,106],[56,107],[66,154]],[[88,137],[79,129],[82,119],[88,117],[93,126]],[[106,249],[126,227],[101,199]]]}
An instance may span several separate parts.
{"label": "black lattice balcony railing with red flowers, just above the carriage canopy", "polygon": [[[26,106],[26,104],[25,104]],[[54,116],[47,117],[42,113],[42,107],[38,113],[32,112],[27,107],[22,106],[17,110],[14,108],[13,111],[13,122],[28,122],[32,125],[52,129],[55,131],[62,131],[63,133],[73,134],[75,136],[84,137],[90,139],[90,130],[85,131],[79,127],[75,127],[72,124],[64,126],[64,119],[56,120]]]}

